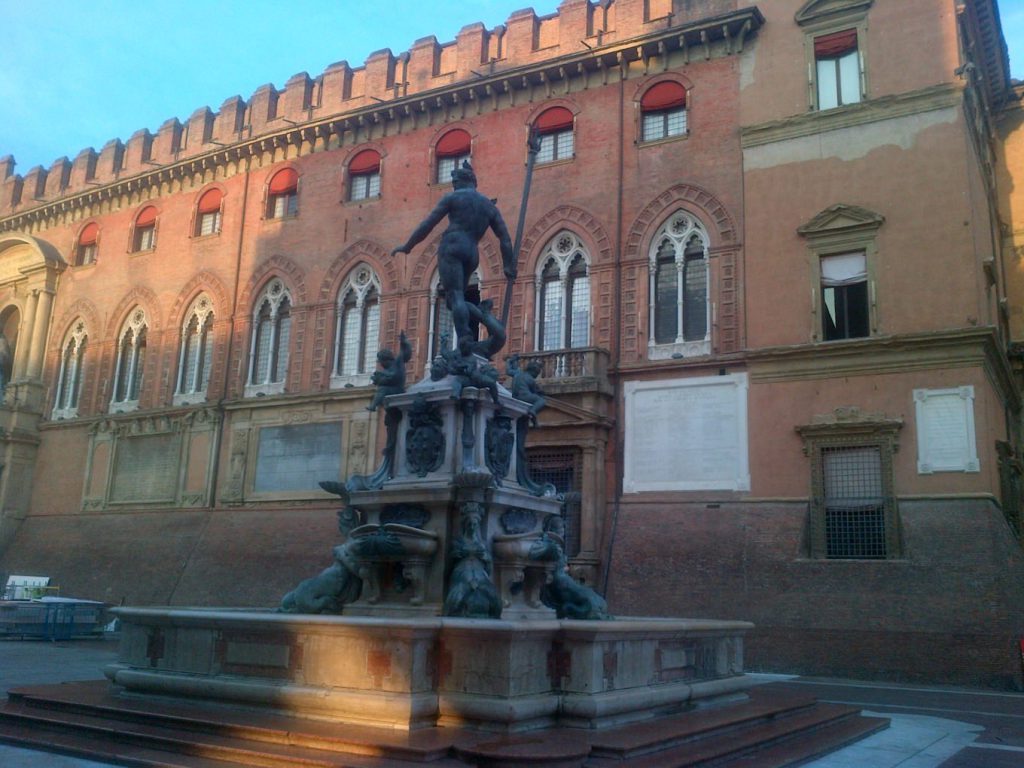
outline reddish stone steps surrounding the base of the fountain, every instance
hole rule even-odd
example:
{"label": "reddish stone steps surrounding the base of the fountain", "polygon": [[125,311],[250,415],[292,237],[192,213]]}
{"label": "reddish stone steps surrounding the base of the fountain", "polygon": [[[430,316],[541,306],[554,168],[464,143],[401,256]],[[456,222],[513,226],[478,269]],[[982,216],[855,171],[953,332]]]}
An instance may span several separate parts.
{"label": "reddish stone steps surrounding the base of the fountain", "polygon": [[771,768],[798,765],[887,725],[850,707],[759,689],[749,700],[605,730],[510,735],[369,728],[254,708],[120,695],[105,681],[22,687],[0,707],[0,740],[161,768]]}

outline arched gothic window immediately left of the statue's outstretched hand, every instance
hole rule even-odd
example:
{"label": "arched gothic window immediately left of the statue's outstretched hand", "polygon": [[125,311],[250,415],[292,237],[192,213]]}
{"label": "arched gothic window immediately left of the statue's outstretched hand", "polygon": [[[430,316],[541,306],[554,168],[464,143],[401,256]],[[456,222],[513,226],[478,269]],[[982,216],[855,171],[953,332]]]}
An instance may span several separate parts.
{"label": "arched gothic window immediately left of the statue's outstretched hand", "polygon": [[380,281],[366,264],[352,270],[338,292],[332,386],[370,383],[380,336]]}

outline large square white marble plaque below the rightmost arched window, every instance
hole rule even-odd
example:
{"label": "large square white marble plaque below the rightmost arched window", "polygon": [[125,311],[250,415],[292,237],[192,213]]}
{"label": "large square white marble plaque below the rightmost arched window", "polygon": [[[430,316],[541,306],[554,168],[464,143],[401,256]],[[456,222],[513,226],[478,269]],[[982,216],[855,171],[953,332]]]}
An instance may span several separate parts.
{"label": "large square white marble plaque below the rightmost arched window", "polygon": [[745,374],[626,384],[626,493],[749,490]]}

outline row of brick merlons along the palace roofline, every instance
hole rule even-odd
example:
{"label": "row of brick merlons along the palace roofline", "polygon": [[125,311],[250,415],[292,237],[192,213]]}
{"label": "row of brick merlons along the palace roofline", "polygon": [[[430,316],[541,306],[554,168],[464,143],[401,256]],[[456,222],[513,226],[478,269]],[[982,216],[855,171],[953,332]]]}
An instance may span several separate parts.
{"label": "row of brick merlons along the palace roofline", "polygon": [[61,157],[48,169],[36,166],[25,176],[14,173],[12,157],[2,157],[0,216],[289,126],[596,49],[737,6],[737,0],[563,0],[557,12],[547,16],[525,8],[492,30],[480,23],[467,25],[449,43],[431,35],[398,55],[386,48],[375,51],[362,67],[342,60],[316,77],[301,72],[281,90],[262,85],[248,101],[231,96],[217,112],[202,106],[184,123],[171,118],[156,134],[138,130],[127,143],[113,139],[98,155],[87,147],[73,162]]}

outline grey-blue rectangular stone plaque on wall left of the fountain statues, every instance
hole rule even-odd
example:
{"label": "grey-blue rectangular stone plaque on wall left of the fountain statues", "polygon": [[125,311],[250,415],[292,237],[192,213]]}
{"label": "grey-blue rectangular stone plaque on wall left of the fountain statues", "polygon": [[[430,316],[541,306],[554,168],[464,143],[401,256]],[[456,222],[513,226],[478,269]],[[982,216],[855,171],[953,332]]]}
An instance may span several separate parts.
{"label": "grey-blue rectangular stone plaque on wall left of the fountain statues", "polygon": [[256,456],[257,494],[318,490],[341,476],[341,422],[262,427]]}

